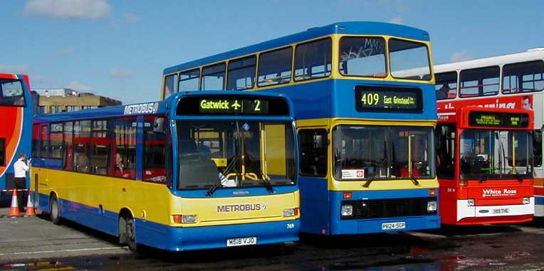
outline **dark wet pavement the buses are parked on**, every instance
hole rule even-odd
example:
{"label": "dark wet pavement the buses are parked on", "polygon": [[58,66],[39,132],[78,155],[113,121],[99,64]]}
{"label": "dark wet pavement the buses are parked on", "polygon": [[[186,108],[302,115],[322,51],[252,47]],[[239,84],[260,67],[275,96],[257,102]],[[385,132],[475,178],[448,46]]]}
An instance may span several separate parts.
{"label": "dark wet pavement the buses are parked on", "polygon": [[[15,223],[15,224],[14,224]],[[544,221],[130,253],[115,238],[45,218],[0,218],[0,270],[544,270]],[[26,233],[26,240],[19,239]]]}

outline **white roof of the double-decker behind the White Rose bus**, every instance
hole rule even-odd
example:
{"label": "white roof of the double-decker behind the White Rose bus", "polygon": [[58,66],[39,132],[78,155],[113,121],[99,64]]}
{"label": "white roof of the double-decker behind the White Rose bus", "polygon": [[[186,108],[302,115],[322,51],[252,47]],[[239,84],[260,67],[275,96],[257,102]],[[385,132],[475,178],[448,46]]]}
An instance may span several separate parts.
{"label": "white roof of the double-decker behind the White Rose bus", "polygon": [[434,73],[444,73],[454,70],[467,70],[472,68],[483,68],[489,66],[503,65],[508,63],[520,63],[530,60],[544,59],[544,48],[533,48],[521,53],[510,53],[506,55],[491,56],[488,58],[476,58],[453,63],[434,65]]}

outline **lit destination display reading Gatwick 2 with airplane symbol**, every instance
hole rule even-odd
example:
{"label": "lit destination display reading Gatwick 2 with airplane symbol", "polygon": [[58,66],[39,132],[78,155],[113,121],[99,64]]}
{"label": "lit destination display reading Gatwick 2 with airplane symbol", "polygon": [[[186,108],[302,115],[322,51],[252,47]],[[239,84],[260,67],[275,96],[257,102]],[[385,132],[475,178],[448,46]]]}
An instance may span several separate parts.
{"label": "lit destination display reading Gatwick 2 with airplane symbol", "polygon": [[206,99],[199,100],[199,113],[268,114],[268,101],[261,99]]}

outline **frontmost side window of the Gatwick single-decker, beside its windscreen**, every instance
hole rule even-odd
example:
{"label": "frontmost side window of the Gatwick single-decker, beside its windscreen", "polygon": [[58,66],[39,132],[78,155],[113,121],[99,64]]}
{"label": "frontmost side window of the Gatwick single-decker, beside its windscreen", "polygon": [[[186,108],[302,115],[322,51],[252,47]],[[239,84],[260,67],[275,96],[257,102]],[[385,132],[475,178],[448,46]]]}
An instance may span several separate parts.
{"label": "frontmost side window of the Gatwick single-decker, beside its windscreen", "polygon": [[[142,180],[166,184],[166,139],[165,132],[154,132],[155,116],[146,116],[144,122],[144,171]],[[164,120],[164,123],[168,123]]]}

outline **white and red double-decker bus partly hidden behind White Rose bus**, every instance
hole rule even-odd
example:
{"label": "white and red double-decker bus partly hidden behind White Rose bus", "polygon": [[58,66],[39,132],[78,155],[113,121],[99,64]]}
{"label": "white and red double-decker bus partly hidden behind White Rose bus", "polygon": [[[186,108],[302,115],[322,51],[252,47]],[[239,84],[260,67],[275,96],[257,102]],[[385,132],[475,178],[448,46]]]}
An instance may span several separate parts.
{"label": "white and red double-decker bus partly hidden behind White Rose bus", "polygon": [[535,216],[544,216],[544,48],[435,65],[434,71],[439,118],[468,106],[534,111]]}

